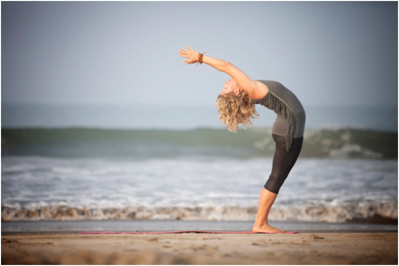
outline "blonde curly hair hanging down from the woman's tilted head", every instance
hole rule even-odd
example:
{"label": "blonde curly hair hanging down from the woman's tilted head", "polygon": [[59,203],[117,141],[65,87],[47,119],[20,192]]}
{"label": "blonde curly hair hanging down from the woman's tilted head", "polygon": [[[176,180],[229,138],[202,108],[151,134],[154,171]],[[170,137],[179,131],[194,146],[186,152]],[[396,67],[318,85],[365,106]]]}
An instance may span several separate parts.
{"label": "blonde curly hair hanging down from the woman's tilted head", "polygon": [[251,119],[259,116],[251,97],[244,90],[238,96],[232,92],[219,94],[216,107],[221,115],[220,120],[227,125],[229,131],[233,132],[236,132],[240,123],[244,129],[247,129],[252,124]]}

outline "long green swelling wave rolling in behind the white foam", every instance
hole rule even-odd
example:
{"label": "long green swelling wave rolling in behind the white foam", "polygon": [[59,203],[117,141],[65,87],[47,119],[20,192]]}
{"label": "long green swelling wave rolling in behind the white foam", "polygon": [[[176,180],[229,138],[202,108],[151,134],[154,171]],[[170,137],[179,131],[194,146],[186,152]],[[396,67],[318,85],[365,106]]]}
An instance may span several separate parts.
{"label": "long green swelling wave rolling in behind the white foam", "polygon": [[[2,155],[61,157],[272,156],[270,128],[144,130],[101,128],[4,128]],[[397,158],[397,132],[366,129],[306,130],[301,156]]]}

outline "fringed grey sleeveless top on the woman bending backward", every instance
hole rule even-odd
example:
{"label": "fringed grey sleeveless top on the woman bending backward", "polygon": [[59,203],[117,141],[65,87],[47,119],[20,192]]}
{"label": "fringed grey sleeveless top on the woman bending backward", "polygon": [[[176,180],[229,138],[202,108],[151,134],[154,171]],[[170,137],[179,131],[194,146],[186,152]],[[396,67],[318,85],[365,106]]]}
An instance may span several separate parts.
{"label": "fringed grey sleeveless top on the woman bending backward", "polygon": [[287,151],[291,148],[293,138],[303,136],[305,129],[305,110],[295,94],[283,84],[272,80],[258,80],[264,83],[269,92],[252,103],[261,104],[277,113],[272,133],[286,137]]}

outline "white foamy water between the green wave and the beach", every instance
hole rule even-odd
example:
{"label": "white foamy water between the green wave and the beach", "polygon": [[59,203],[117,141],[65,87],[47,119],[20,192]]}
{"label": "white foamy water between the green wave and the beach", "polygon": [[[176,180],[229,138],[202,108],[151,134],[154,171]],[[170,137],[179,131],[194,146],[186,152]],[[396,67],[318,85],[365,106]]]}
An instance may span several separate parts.
{"label": "white foamy water between the green wave and the beach", "polygon": [[[253,220],[272,158],[2,157],[2,220]],[[397,160],[299,158],[271,220],[397,219]]]}

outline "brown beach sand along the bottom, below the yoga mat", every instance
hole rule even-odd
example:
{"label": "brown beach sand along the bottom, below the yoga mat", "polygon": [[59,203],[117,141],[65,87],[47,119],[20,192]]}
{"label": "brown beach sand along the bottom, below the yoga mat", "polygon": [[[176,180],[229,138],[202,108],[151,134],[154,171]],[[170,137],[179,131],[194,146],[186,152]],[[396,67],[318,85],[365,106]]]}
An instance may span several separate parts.
{"label": "brown beach sand along the bottom, below the yoga mat", "polygon": [[2,264],[397,264],[397,232],[2,233]]}

